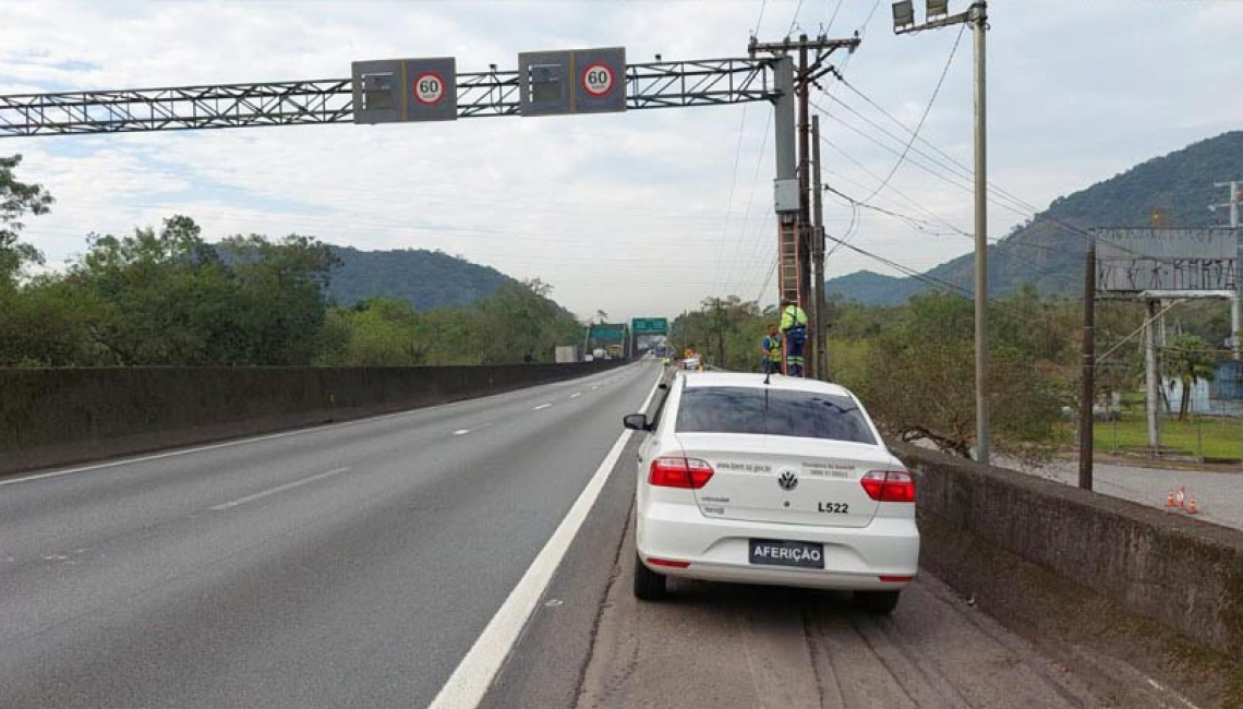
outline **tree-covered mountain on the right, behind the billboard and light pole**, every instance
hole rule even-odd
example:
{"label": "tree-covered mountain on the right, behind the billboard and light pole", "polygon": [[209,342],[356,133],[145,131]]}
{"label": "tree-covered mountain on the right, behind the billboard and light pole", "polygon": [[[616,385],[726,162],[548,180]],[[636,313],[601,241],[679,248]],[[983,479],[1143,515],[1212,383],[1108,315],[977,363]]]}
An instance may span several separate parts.
{"label": "tree-covered mountain on the right, behind the billboard and light pole", "polygon": [[[1075,229],[1146,226],[1154,209],[1166,226],[1209,226],[1221,215],[1208,204],[1221,202],[1213,183],[1243,177],[1243,131],[1192,143],[1160,158],[1059,197],[1027,224],[1016,226],[988,248],[988,294],[997,296],[1033,284],[1045,294],[1075,296],[1083,291],[1085,240]],[[996,209],[996,206],[991,208]],[[1068,229],[1071,226],[1073,229]],[[972,290],[975,256],[965,254],[926,272]],[[886,280],[881,280],[886,279]],[[929,290],[914,277],[856,271],[825,282],[825,292],[866,305],[894,305]]]}

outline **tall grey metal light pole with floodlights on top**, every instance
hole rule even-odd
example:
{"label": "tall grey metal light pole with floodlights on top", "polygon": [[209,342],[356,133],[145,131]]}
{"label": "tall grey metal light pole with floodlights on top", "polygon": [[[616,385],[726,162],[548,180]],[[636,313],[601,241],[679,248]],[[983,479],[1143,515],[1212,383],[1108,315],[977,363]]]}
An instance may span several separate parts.
{"label": "tall grey metal light pole with floodlights on top", "polygon": [[966,12],[948,15],[948,0],[927,0],[927,21],[915,24],[912,0],[894,2],[894,32],[905,35],[971,25],[975,35],[975,103],[976,103],[976,460],[988,464],[988,159],[984,91],[984,32],[988,30],[988,2],[977,0]]}

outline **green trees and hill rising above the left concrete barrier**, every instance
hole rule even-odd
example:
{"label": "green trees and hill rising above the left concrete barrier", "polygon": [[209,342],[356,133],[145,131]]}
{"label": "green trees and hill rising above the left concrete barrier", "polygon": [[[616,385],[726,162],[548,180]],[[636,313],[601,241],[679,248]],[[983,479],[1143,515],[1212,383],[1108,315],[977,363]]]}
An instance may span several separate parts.
{"label": "green trees and hill rising above the left concrete barrier", "polygon": [[538,280],[297,234],[209,241],[184,215],[91,234],[67,270],[34,269],[22,219],[53,200],[17,180],[20,163],[0,157],[0,367],[551,362],[582,337]]}

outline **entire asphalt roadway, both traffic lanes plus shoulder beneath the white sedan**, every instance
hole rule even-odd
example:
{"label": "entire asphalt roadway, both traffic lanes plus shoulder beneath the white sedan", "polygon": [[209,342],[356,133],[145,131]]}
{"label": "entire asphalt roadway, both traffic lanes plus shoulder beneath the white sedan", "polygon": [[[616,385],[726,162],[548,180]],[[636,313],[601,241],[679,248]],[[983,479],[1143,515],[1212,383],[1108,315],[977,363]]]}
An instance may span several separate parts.
{"label": "entire asphalt roadway, both traffic lanes plus shoulder beneath the white sedan", "polygon": [[[0,709],[426,707],[655,376],[0,479]],[[482,708],[1193,707],[1116,658],[1088,664],[1125,687],[1100,684],[927,573],[889,618],[696,582],[638,603],[638,443]]]}

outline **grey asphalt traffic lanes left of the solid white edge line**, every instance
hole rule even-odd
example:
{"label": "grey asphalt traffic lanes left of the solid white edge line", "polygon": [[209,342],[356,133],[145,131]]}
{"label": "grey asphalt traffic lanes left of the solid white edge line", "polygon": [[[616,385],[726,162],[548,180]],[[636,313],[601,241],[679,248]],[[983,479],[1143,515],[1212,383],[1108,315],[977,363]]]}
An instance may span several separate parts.
{"label": "grey asphalt traffic lanes left of the solid white edge line", "polygon": [[0,480],[0,707],[426,705],[655,374]]}

